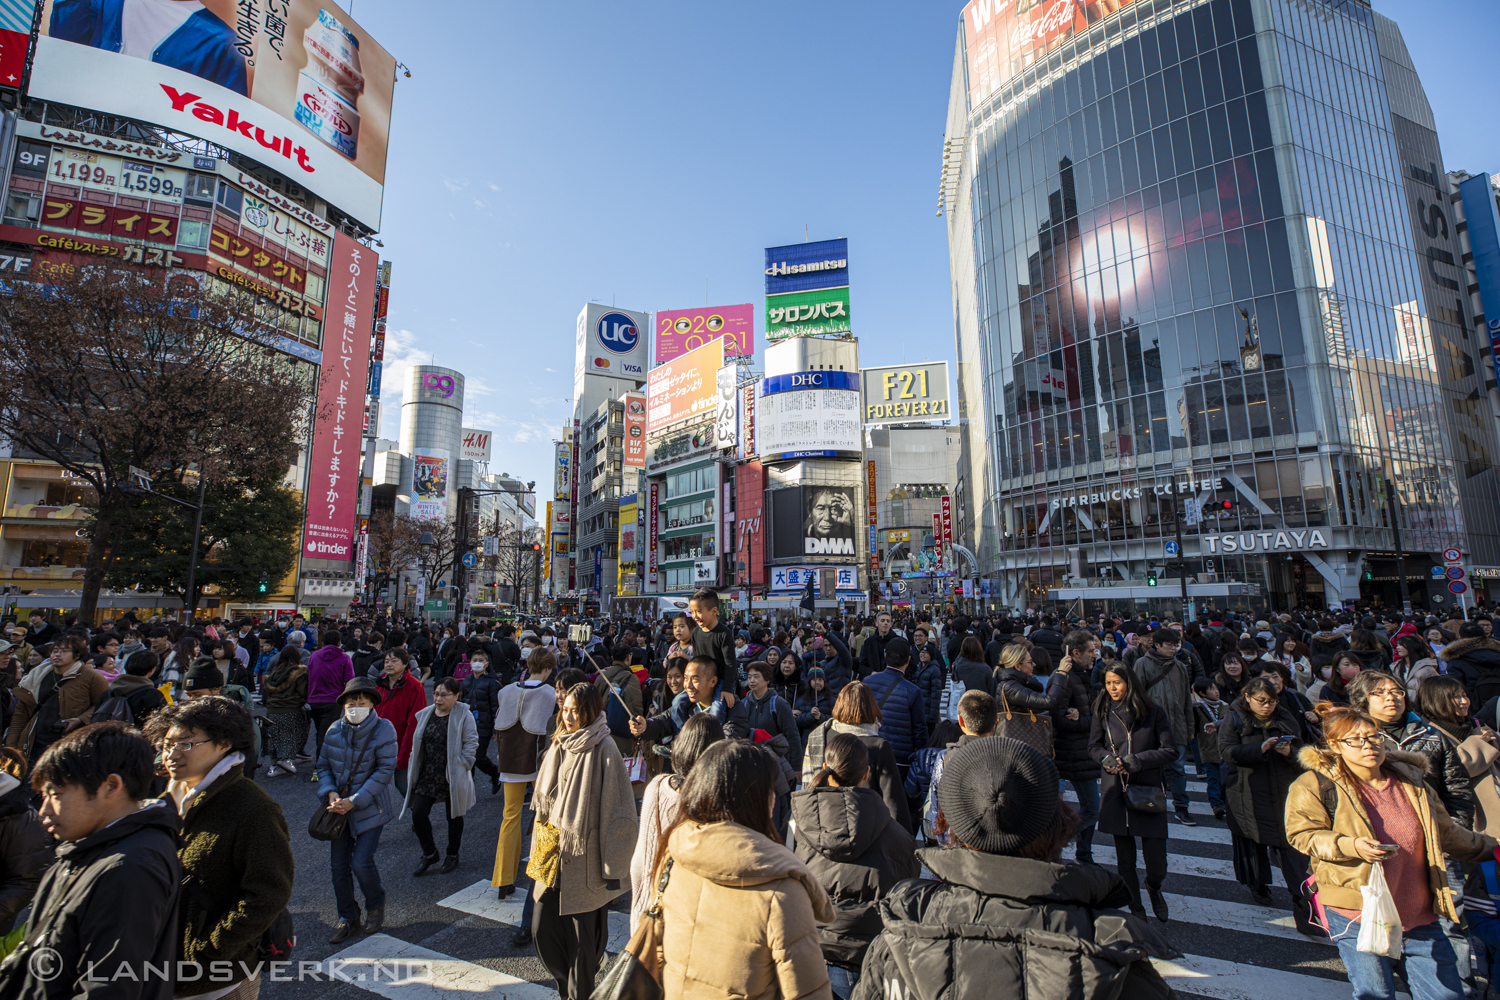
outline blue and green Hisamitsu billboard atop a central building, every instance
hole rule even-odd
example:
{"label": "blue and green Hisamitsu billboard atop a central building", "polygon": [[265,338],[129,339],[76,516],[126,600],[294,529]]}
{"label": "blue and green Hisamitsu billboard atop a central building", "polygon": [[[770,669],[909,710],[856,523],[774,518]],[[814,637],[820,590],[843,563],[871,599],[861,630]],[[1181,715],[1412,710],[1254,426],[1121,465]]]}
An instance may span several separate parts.
{"label": "blue and green Hisamitsu billboard atop a central building", "polygon": [[765,339],[849,331],[849,240],[768,247]]}

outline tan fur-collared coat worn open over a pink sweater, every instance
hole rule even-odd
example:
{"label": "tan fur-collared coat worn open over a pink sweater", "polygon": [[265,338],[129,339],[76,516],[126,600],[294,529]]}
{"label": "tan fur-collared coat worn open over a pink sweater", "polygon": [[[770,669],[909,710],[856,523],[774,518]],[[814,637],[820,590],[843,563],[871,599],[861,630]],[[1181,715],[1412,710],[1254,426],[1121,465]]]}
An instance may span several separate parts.
{"label": "tan fur-collared coat worn open over a pink sweater", "polygon": [[[1344,778],[1336,760],[1335,751],[1311,745],[1298,754],[1298,763],[1308,774],[1292,784],[1292,793],[1287,796],[1287,841],[1312,859],[1312,874],[1317,876],[1318,900],[1323,906],[1359,910],[1364,907],[1359,889],[1370,882],[1371,864],[1354,852],[1354,840],[1359,837],[1374,840],[1376,834],[1359,790]],[[1401,783],[1422,822],[1432,912],[1449,921],[1458,921],[1454,891],[1448,886],[1448,873],[1443,868],[1443,855],[1448,853],[1460,861],[1485,861],[1494,852],[1496,841],[1492,837],[1466,831],[1449,819],[1448,810],[1422,781],[1426,768],[1428,760],[1422,754],[1401,750],[1386,753],[1384,774]],[[1338,808],[1332,817],[1323,808],[1318,774],[1332,778],[1336,789]]]}

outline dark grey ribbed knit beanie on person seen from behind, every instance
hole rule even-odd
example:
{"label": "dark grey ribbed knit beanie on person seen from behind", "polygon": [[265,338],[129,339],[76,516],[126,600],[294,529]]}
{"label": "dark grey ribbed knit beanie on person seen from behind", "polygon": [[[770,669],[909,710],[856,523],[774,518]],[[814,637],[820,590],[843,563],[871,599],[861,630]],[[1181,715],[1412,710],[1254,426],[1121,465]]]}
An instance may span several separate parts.
{"label": "dark grey ribbed knit beanie on person seen from behind", "polygon": [[948,751],[938,805],[962,843],[1012,855],[1058,819],[1058,766],[1017,739],[975,739]]}

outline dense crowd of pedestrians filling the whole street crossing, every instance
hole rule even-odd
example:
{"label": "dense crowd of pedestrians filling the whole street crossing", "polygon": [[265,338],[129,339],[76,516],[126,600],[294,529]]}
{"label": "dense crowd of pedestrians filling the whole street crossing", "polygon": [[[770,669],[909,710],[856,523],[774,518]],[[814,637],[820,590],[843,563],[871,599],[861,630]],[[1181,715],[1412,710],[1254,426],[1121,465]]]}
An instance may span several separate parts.
{"label": "dense crowd of pedestrians filling the whole street crossing", "polygon": [[[1248,900],[1278,906],[1280,882],[1356,997],[1473,996],[1500,948],[1491,631],[1348,612],[778,625],[722,618],[712,591],[592,628],[34,615],[0,648],[0,933],[24,915],[0,990],[82,996],[92,961],[171,960],[120,996],[250,1000],[249,970],[291,948],[303,837],[261,786],[316,786],[339,945],[384,928],[388,823],[411,823],[416,876],[489,850],[464,843],[478,771],[504,793],[490,885],[525,889],[514,945],[564,997],[592,994],[627,903],[668,997],[1168,997],[1150,960],[1176,955],[1167,838],[1198,822],[1196,771]],[[1396,954],[1359,943],[1374,888]],[[42,948],[72,990],[38,979]],[[246,972],[180,979],[214,963]]]}

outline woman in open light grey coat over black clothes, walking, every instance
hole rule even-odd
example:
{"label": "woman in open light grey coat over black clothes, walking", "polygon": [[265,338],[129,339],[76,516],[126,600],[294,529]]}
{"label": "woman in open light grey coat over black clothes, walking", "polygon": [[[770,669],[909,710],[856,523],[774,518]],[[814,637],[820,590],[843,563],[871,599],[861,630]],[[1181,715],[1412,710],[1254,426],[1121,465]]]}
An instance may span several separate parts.
{"label": "woman in open light grey coat over black clothes, walking", "polygon": [[460,682],[442,678],[432,688],[432,705],[417,712],[417,727],[411,738],[411,780],[405,816],[411,810],[411,829],[422,844],[422,862],[412,876],[420,876],[438,864],[438,846],[432,840],[432,807],[441,802],[448,817],[448,853],[440,874],[459,867],[464,841],[464,814],[476,802],[474,759],[478,754],[478,730],[472,712],[459,705]]}

